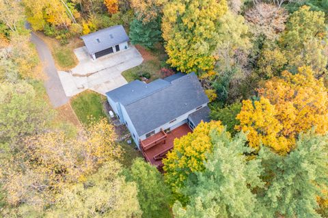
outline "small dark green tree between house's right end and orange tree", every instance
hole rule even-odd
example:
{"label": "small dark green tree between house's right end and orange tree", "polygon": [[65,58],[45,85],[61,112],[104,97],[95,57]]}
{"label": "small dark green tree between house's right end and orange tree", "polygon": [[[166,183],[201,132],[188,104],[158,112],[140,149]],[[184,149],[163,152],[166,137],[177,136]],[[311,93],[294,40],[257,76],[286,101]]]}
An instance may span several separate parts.
{"label": "small dark green tree between house's right end and orange tree", "polygon": [[210,110],[210,118],[212,120],[220,120],[224,126],[226,126],[227,131],[232,135],[236,135],[237,131],[234,126],[240,124],[236,120],[236,115],[241,112],[241,103],[234,103],[223,108],[212,108]]}

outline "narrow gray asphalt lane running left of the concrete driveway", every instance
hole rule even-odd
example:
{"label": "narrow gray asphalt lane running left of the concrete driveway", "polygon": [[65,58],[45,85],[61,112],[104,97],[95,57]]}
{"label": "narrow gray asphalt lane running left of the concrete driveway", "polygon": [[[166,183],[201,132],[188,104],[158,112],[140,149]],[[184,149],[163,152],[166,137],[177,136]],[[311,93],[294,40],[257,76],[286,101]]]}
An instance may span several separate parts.
{"label": "narrow gray asphalt lane running left of the concrete driveway", "polygon": [[49,96],[51,104],[54,107],[65,105],[68,103],[69,98],[65,95],[63,86],[61,85],[51,51],[43,40],[33,32],[31,32],[31,42],[36,44],[36,49],[44,66],[44,72],[47,76],[44,87],[46,87],[46,93]]}

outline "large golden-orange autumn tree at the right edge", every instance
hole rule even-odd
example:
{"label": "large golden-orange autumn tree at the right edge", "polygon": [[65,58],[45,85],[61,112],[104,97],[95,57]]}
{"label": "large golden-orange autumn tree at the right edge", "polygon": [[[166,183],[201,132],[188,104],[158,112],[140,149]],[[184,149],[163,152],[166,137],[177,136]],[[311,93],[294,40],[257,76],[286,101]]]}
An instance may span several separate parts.
{"label": "large golden-orange autumn tree at the right edge", "polygon": [[310,67],[297,74],[282,72],[258,89],[260,100],[244,100],[236,117],[237,130],[248,133],[249,146],[273,148],[279,154],[290,152],[301,132],[315,127],[316,133],[328,130],[328,96],[322,79],[315,79]]}

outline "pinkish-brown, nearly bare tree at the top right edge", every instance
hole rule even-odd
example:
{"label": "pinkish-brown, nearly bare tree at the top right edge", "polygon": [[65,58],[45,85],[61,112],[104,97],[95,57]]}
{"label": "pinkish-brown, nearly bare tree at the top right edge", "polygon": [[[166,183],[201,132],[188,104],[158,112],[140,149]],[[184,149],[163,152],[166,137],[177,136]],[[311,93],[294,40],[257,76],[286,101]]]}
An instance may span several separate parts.
{"label": "pinkish-brown, nearly bare tree at the top right edge", "polygon": [[256,37],[264,35],[268,40],[275,40],[284,31],[288,13],[269,3],[259,3],[245,13],[250,30]]}

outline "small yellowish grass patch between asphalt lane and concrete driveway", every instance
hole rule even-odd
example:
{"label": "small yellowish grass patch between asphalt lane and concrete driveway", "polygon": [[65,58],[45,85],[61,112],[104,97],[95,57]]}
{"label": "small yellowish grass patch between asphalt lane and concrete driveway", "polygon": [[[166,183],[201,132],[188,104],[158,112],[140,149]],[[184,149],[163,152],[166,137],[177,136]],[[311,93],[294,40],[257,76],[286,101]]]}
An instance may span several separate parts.
{"label": "small yellowish grass patch between asphalt lane and concrete driveway", "polygon": [[72,49],[64,46],[55,46],[53,55],[55,62],[64,69],[73,68],[77,65],[76,57]]}

